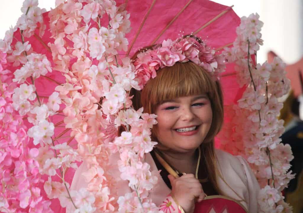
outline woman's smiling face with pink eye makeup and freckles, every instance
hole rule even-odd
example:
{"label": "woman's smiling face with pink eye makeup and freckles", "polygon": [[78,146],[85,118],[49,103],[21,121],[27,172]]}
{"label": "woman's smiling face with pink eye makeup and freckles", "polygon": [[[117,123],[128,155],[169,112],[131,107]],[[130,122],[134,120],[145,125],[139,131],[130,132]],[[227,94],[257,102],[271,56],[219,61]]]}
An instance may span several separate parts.
{"label": "woman's smiling face with pink eye makeup and freckles", "polygon": [[167,100],[156,108],[158,142],[176,152],[195,150],[204,141],[212,122],[206,94]]}

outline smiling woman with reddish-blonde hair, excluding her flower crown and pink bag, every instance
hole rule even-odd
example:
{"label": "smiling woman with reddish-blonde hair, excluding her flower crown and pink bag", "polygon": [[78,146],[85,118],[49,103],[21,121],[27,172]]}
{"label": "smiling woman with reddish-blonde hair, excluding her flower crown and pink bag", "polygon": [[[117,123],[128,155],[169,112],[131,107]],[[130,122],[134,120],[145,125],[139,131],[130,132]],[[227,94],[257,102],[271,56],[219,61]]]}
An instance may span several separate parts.
{"label": "smiling woman with reddish-blonde hair, excluding her flower crown and pink bag", "polygon": [[[223,122],[219,81],[193,62],[176,62],[159,69],[142,91],[131,93],[135,110],[143,107],[146,113],[157,115],[152,140],[158,144],[151,157],[185,212],[193,212],[195,202],[206,195],[226,195],[249,212],[257,212],[259,185],[247,163],[214,148]],[[242,187],[237,189],[233,179],[239,178]]]}

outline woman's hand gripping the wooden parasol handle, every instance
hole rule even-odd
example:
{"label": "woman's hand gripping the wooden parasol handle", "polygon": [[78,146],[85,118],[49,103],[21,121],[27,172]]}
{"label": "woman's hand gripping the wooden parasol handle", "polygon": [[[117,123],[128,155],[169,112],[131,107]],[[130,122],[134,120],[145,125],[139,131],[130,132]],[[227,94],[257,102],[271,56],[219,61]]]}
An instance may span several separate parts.
{"label": "woman's hand gripping the wooden parasol handle", "polygon": [[193,174],[185,174],[179,178],[168,175],[171,182],[171,194],[178,201],[185,213],[192,213],[195,209],[195,202],[204,199],[201,183]]}

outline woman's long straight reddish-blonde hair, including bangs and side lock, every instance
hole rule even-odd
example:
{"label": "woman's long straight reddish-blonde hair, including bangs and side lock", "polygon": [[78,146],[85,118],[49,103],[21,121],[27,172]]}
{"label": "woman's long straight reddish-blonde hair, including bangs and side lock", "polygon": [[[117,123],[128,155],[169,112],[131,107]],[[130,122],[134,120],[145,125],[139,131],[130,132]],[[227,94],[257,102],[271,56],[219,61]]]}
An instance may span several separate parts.
{"label": "woman's long straight reddish-blonde hair, including bangs and side lock", "polygon": [[[223,123],[223,98],[220,83],[213,81],[207,71],[193,62],[177,62],[171,67],[159,69],[156,78],[149,80],[142,91],[131,91],[131,95],[134,95],[132,99],[134,109],[143,107],[144,112],[150,114],[155,113],[157,106],[165,100],[202,93],[208,95],[213,117],[201,148],[205,156],[208,178],[214,189],[222,194],[217,183],[218,169],[214,148],[214,137]],[[152,138],[156,140],[154,132]]]}

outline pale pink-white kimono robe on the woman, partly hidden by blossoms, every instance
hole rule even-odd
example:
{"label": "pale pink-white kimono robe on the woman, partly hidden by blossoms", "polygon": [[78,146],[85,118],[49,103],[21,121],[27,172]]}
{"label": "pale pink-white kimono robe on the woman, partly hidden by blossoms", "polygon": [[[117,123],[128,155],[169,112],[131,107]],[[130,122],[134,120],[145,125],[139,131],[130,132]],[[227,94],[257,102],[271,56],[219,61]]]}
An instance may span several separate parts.
{"label": "pale pink-white kimono robe on the woman, partly hidden by blossoms", "polygon": [[[241,156],[233,156],[225,151],[216,149],[215,150],[218,159],[218,169],[221,172],[222,178],[218,177],[218,185],[225,196],[231,199],[237,200],[249,213],[258,212],[258,202],[257,196],[260,190],[260,186],[255,178],[254,173],[251,171],[248,163]],[[113,161],[117,162],[119,155],[112,155]],[[151,166],[151,170],[157,170],[156,164],[151,157],[151,154],[145,155],[145,162]],[[75,172],[75,176],[72,181],[71,189],[78,190],[82,187],[87,187],[87,183],[82,177],[82,172],[86,171],[85,164],[82,164]],[[118,166],[116,169],[111,171],[113,176],[120,176]],[[131,188],[128,186],[128,182],[121,180],[117,183],[119,185],[118,195],[123,196],[127,192],[132,192]],[[167,196],[170,194],[171,189],[168,188],[166,183],[163,181],[161,175],[158,173],[158,185],[150,193],[150,197],[153,202],[160,206],[163,201],[166,200]],[[172,201],[173,202],[173,201]],[[175,204],[175,203],[174,203]],[[178,208],[176,211],[180,212]],[[72,205],[68,205],[66,212],[73,212],[74,208]]]}

